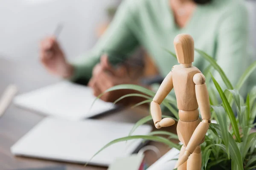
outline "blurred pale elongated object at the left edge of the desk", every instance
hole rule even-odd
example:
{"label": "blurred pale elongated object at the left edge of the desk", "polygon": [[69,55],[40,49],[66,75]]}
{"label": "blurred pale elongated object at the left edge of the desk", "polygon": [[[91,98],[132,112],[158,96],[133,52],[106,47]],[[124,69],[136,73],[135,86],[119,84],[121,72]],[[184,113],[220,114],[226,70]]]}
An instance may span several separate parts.
{"label": "blurred pale elongated object at the left edge of the desk", "polygon": [[8,106],[11,104],[13,97],[17,93],[18,89],[15,85],[7,86],[6,90],[3,92],[3,96],[0,99],[0,117],[6,111]]}

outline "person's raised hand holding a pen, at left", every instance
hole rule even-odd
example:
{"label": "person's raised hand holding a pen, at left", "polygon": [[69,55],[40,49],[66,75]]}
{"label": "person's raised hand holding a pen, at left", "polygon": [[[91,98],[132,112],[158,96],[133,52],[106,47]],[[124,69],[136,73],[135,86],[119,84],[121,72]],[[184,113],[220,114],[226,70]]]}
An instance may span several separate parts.
{"label": "person's raised hand holding a pen, at left", "polygon": [[73,75],[73,66],[66,61],[55,37],[47,37],[41,41],[40,60],[51,74],[62,78],[69,78]]}

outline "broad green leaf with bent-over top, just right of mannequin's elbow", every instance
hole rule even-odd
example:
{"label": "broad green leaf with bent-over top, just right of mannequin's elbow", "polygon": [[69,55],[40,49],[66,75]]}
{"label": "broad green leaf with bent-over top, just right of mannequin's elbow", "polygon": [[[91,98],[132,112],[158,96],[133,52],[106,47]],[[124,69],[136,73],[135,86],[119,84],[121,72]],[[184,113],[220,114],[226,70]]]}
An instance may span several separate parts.
{"label": "broad green leaf with bent-over top, just right of mannequin's elbow", "polygon": [[221,106],[211,106],[213,110],[215,111],[217,118],[218,118],[218,124],[220,125],[221,128],[221,135],[223,142],[226,146],[227,150],[227,156],[230,158],[229,154],[229,132],[228,132],[228,125],[227,125],[227,116],[225,115],[226,111],[225,109]]}

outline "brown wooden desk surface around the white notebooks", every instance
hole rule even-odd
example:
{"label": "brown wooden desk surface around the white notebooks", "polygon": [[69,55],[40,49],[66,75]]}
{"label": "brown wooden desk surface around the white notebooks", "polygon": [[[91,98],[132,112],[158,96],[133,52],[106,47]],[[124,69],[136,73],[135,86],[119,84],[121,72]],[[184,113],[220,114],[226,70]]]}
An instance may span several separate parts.
{"label": "brown wooden desk surface around the white notebooks", "polygon": [[[28,92],[46,85],[58,82],[59,80],[49,76],[36,58],[26,61],[8,61],[0,58],[0,94],[10,83],[17,85],[19,93]],[[98,116],[95,119],[114,120],[122,122],[137,122],[137,120],[148,115],[148,109],[125,109],[107,115]],[[16,108],[11,105],[3,117],[0,118],[0,170],[17,169],[39,169],[43,167],[61,167],[65,170],[106,170],[106,167],[69,164],[65,162],[47,161],[41,159],[30,159],[13,156],[10,147],[20,137],[26,134],[33,126],[43,119],[44,116]],[[169,131],[175,131],[175,127]],[[150,142],[149,144],[159,148],[161,155],[170,148],[165,144]],[[154,163],[157,158],[151,151],[145,153],[145,161],[148,164]]]}

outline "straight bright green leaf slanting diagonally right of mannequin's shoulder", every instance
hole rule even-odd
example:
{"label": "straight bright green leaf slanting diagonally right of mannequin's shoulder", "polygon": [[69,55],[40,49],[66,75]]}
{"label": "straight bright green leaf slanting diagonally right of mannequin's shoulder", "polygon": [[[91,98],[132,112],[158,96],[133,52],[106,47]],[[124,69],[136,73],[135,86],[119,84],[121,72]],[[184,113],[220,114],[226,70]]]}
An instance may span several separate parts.
{"label": "straight bright green leaf slanting diagonally right of mannequin's shoulder", "polygon": [[[211,75],[211,76],[212,76],[212,75]],[[221,99],[222,99],[224,108],[225,108],[225,110],[227,111],[227,114],[228,114],[228,116],[229,116],[229,118],[230,118],[230,122],[231,122],[231,125],[232,125],[232,127],[233,127],[233,131],[234,131],[234,133],[235,133],[236,140],[237,140],[238,142],[241,142],[241,137],[240,137],[240,134],[239,134],[238,125],[237,125],[237,123],[236,123],[236,118],[235,118],[235,115],[234,115],[234,113],[233,113],[233,110],[232,110],[232,108],[231,108],[229,102],[227,101],[227,98],[226,98],[224,92],[222,91],[220,85],[218,84],[218,82],[215,80],[215,78],[214,78],[213,76],[212,76],[212,81],[213,81],[213,83],[214,83],[214,85],[215,85],[215,87],[216,87],[218,93],[219,93],[220,96],[221,96]]]}

